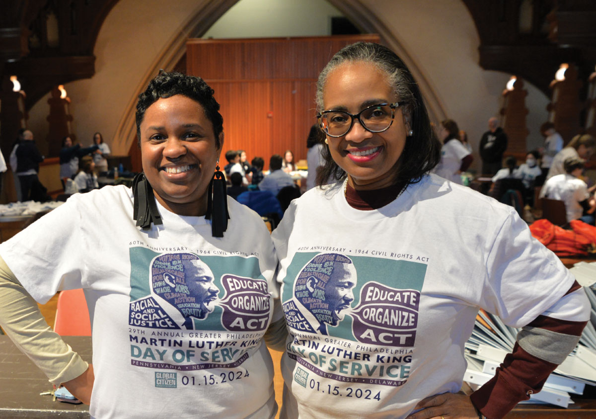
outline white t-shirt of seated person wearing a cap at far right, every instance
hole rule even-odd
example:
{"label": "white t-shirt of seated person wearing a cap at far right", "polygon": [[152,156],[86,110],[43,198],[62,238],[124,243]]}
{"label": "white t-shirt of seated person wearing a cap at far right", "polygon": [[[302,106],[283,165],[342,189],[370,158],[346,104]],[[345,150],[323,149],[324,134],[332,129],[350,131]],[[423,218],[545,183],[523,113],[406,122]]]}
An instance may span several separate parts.
{"label": "white t-shirt of seated person wearing a cap at far right", "polygon": [[540,198],[558,199],[565,202],[567,221],[578,220],[583,214],[579,205],[584,199],[589,198],[588,185],[570,174],[560,174],[546,181],[540,191]]}

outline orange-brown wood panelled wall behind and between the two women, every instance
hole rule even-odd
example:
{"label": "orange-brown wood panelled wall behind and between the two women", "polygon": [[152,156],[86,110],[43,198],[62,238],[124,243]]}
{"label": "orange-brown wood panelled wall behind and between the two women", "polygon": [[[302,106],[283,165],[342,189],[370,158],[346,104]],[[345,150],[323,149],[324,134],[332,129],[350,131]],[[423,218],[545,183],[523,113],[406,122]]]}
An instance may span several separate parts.
{"label": "orange-brown wood panelled wall behind and between the two women", "polygon": [[224,116],[226,150],[246,150],[269,167],[273,154],[292,150],[306,159],[306,137],[315,119],[316,78],[331,56],[377,35],[305,38],[189,39],[187,73],[215,90]]}

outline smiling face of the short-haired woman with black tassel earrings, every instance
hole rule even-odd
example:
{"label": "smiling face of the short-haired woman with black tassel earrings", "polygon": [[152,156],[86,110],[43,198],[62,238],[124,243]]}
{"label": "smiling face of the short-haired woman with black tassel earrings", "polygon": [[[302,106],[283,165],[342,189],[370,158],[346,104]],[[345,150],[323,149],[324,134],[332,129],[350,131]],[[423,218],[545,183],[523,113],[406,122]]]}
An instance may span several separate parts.
{"label": "smiling face of the short-haired woman with black tassel earrings", "polygon": [[143,171],[157,201],[179,215],[204,215],[224,134],[217,147],[201,104],[179,94],[160,98],[145,111],[140,134]]}

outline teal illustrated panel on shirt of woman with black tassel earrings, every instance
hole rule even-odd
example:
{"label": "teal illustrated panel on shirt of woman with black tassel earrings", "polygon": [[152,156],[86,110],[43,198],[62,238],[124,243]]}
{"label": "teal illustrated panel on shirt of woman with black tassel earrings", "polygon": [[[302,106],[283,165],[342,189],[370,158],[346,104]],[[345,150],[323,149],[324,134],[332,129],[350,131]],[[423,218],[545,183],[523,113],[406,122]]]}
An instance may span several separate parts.
{"label": "teal illustrated panel on shirt of woman with black tassel earrings", "polygon": [[129,325],[160,329],[263,331],[267,282],[256,257],[129,251]]}

